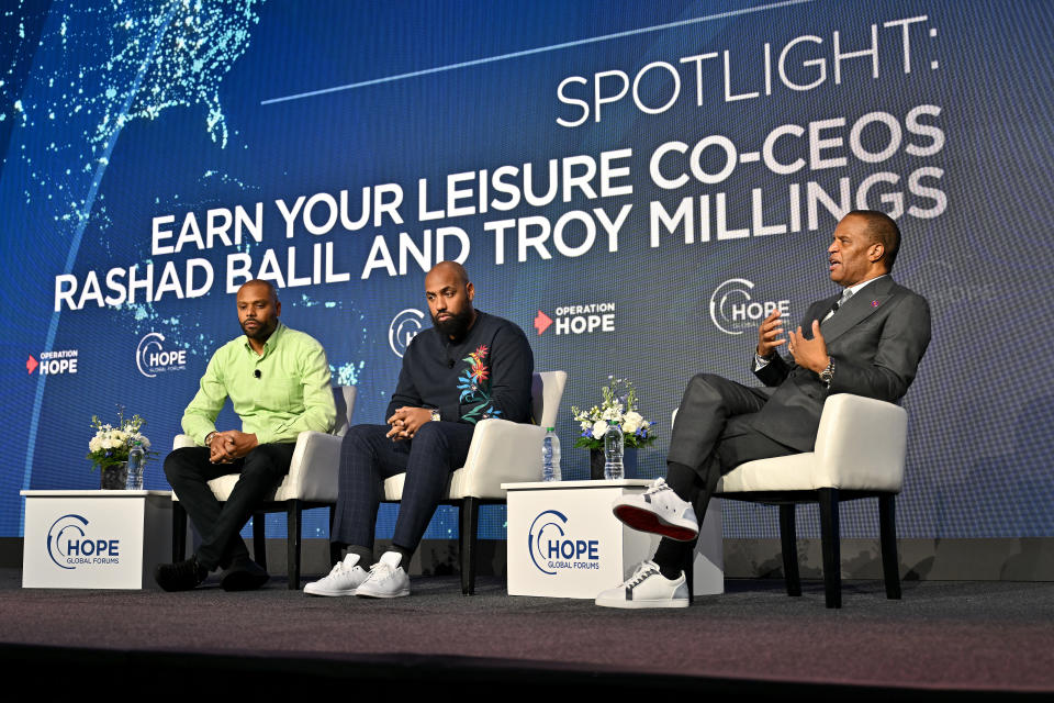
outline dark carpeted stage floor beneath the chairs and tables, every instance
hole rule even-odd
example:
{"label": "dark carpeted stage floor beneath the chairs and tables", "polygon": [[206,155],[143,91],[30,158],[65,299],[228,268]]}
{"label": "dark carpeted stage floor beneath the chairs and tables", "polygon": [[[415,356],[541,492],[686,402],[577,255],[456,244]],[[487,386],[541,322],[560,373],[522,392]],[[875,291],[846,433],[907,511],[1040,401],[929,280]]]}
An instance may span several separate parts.
{"label": "dark carpeted stage floor beneath the chairs and tables", "polygon": [[235,671],[274,693],[312,677],[424,687],[433,676],[495,692],[1054,693],[1054,583],[909,582],[887,601],[879,582],[850,581],[841,611],[823,607],[819,582],[792,599],[782,581],[729,581],[686,611],[636,612],[511,598],[500,579],[481,579],[472,598],[457,577],[412,588],[394,601],[310,598],[280,580],[250,593],[211,581],[171,594],[22,590],[19,570],[0,569],[0,661],[64,679],[120,666],[173,685]]}

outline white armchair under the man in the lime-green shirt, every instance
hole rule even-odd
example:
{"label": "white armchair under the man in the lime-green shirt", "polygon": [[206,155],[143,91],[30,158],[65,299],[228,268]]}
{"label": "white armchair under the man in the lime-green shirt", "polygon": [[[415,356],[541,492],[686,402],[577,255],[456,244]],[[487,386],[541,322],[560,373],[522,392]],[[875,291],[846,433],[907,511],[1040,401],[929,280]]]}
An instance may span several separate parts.
{"label": "white armchair under the man in the lime-green shirt", "polygon": [[[287,514],[287,572],[291,590],[300,588],[301,513],[312,507],[328,506],[329,523],[333,524],[333,505],[337,502],[337,473],[340,467],[340,442],[351,423],[356,392],[354,386],[333,389],[337,404],[337,421],[333,433],[300,433],[289,475],[274,489],[274,494],[253,515],[253,556],[261,567],[267,568],[264,514],[279,511]],[[188,435],[178,435],[172,443],[173,449],[192,446],[194,440]],[[227,500],[239,476],[227,473],[209,481],[209,488],[216,500]],[[175,492],[172,501],[172,559],[179,561],[187,551],[187,512],[179,505],[179,498]]]}

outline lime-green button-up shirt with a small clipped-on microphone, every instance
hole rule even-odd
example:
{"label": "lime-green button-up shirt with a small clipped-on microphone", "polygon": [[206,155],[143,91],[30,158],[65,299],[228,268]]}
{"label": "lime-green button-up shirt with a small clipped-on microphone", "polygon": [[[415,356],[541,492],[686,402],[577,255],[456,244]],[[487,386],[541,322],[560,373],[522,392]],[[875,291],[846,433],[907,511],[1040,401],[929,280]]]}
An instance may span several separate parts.
{"label": "lime-green button-up shirt with a small clipped-on microphone", "polygon": [[183,432],[204,444],[226,399],[242,432],[259,444],[296,442],[305,429],[329,432],[337,416],[326,352],[313,337],[279,323],[257,354],[245,336],[220,347],[183,413]]}

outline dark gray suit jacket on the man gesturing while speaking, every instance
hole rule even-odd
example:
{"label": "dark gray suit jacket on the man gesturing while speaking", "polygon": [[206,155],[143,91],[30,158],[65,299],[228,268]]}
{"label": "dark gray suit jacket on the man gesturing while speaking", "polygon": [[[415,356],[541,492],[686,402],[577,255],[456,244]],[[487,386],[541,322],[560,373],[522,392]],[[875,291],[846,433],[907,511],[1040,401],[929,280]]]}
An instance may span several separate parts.
{"label": "dark gray suit jacket on the man gesturing while speaking", "polygon": [[[811,337],[812,321],[822,320],[841,293],[812,303],[801,321]],[[907,391],[930,343],[930,306],[918,293],[888,276],[868,283],[840,306],[820,331],[834,360],[826,389],[817,373],[781,356],[755,371],[775,387],[754,422],[756,429],[799,451],[811,451],[823,401],[833,393],[853,393],[896,402]]]}

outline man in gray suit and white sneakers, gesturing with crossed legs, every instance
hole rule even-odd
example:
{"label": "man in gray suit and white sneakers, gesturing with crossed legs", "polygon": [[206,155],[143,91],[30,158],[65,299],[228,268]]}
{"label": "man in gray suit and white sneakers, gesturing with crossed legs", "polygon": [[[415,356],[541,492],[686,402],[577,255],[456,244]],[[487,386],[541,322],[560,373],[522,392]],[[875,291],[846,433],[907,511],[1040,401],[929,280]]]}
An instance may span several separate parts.
{"label": "man in gray suit and white sneakers, gesturing with crossed legs", "polygon": [[[812,303],[801,326],[786,336],[778,310],[758,330],[753,372],[766,388],[710,373],[689,381],[665,480],[613,506],[630,527],[663,539],[653,559],[601,593],[597,605],[687,606],[682,565],[698,536],[696,516],[706,514],[724,473],[754,459],[811,451],[828,395],[895,402],[907,392],[930,342],[930,309],[889,277],[899,248],[900,231],[888,215],[850,212],[828,247],[830,278],[844,290]],[[790,359],[777,354],[783,345]]]}

